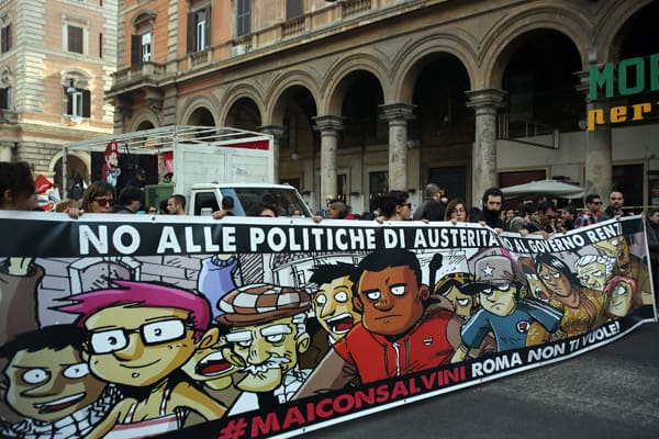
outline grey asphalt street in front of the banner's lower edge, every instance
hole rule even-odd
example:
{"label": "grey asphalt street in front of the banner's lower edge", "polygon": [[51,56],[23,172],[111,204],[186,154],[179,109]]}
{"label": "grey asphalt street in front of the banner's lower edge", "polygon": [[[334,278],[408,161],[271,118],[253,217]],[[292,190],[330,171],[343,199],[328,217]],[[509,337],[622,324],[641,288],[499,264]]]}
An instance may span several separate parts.
{"label": "grey asphalt street in front of the banner's lower edge", "polygon": [[656,439],[659,324],[570,360],[303,437]]}

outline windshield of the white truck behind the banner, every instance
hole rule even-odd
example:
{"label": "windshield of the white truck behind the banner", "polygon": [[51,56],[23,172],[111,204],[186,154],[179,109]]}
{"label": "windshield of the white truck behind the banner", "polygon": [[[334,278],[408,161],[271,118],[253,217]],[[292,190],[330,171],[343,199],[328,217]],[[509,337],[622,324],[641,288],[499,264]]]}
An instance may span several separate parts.
{"label": "windshield of the white truck behind the banner", "polygon": [[222,195],[233,196],[234,214],[238,216],[244,216],[249,207],[257,203],[276,207],[278,216],[312,216],[304,201],[293,189],[223,188]]}

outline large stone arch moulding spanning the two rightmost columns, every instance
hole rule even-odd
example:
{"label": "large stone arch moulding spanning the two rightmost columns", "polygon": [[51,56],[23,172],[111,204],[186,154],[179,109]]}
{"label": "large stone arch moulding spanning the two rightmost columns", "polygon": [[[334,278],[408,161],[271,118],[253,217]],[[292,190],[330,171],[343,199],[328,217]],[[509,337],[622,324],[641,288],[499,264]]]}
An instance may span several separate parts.
{"label": "large stone arch moulding spanning the two rightmost columns", "polygon": [[529,9],[495,23],[479,50],[477,71],[481,75],[474,78],[474,89],[502,88],[503,71],[523,43],[521,36],[532,31],[551,30],[566,35],[579,52],[582,66],[588,66],[588,48],[592,46],[588,30],[592,22],[587,16],[584,10],[556,5]]}

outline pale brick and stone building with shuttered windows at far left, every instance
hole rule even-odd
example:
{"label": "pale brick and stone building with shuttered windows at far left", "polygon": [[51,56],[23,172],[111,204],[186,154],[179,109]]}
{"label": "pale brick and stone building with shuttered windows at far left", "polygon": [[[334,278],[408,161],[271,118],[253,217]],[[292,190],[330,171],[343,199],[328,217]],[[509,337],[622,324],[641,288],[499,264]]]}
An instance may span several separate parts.
{"label": "pale brick and stone building with shuttered windows at far left", "polygon": [[[0,160],[62,181],[62,147],[108,134],[116,69],[118,0],[0,1]],[[90,161],[71,155],[70,176]],[[62,188],[60,188],[62,189]]]}

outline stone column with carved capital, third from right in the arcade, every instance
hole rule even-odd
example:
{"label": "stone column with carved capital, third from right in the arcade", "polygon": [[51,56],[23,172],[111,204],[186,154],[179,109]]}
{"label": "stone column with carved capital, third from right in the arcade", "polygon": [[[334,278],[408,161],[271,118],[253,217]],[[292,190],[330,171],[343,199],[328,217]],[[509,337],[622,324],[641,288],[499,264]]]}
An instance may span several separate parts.
{"label": "stone column with carved capital, third from right in the arcade", "polygon": [[396,102],[380,105],[380,117],[389,122],[389,190],[407,190],[407,121],[414,105]]}

